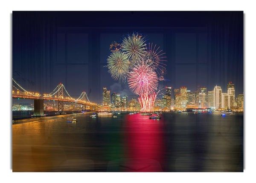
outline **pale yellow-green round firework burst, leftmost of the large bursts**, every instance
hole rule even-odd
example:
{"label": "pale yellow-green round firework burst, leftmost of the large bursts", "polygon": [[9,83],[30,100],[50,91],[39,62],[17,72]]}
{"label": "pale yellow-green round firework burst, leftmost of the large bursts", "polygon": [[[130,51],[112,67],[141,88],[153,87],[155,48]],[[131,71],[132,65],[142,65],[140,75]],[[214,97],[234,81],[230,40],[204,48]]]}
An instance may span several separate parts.
{"label": "pale yellow-green round firework burst, leftmost of the large bursts", "polygon": [[113,51],[107,59],[108,72],[114,80],[125,80],[129,72],[128,57],[122,51]]}

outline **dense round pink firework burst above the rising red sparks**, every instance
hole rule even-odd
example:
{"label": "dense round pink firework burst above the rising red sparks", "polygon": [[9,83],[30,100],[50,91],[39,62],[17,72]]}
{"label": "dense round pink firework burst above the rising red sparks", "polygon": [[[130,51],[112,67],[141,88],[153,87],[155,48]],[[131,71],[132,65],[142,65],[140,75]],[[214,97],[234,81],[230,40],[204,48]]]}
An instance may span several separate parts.
{"label": "dense round pink firework burst above the rising red sparks", "polygon": [[157,89],[157,73],[147,61],[142,60],[128,74],[128,84],[131,91],[135,94],[151,94]]}

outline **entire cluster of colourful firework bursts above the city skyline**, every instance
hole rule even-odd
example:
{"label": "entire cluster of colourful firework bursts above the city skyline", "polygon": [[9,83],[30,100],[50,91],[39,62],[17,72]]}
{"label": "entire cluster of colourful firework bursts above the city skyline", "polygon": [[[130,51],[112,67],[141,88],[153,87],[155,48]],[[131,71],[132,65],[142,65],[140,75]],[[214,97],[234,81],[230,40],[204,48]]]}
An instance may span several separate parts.
{"label": "entire cluster of colourful firework bursts above the city skyline", "polygon": [[160,47],[153,46],[153,43],[146,45],[145,41],[142,34],[134,32],[122,37],[121,44],[112,42],[105,67],[114,80],[120,82],[127,78],[131,91],[140,96],[141,110],[150,111],[157,95],[163,94],[163,86],[157,89],[157,85],[166,80],[164,62],[167,61]]}

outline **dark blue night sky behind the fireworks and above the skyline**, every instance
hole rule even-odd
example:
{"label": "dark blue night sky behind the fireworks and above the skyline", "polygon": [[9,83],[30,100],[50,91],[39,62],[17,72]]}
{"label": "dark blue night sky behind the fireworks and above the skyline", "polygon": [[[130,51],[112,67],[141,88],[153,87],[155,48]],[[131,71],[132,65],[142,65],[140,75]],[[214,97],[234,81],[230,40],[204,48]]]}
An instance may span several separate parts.
{"label": "dark blue night sky behind the fireworks and above the skyline", "polygon": [[[236,96],[244,87],[243,11],[13,11],[13,78],[26,90],[50,93],[63,83],[74,98],[86,91],[102,102],[102,87],[133,96],[107,72],[109,45],[139,31],[163,50],[167,66],[160,84],[199,85]],[[173,91],[172,91],[173,92]]]}

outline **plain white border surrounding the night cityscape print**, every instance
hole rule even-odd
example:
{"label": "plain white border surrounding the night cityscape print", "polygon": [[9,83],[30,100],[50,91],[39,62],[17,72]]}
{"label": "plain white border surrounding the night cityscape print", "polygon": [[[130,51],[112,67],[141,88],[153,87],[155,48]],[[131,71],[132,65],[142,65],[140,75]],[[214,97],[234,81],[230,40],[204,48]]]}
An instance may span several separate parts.
{"label": "plain white border surrounding the night cityscape print", "polygon": [[[53,1],[53,0],[9,0],[2,1],[0,11],[0,53],[1,53],[1,179],[4,182],[253,182],[255,181],[255,116],[253,106],[256,104],[255,96],[255,52],[256,28],[255,5],[241,0],[129,0],[129,1]],[[253,1],[250,1],[253,2]],[[244,105],[245,105],[245,170],[243,173],[12,173],[11,159],[11,13],[12,11],[244,11]],[[7,97],[8,96],[8,97]]]}

